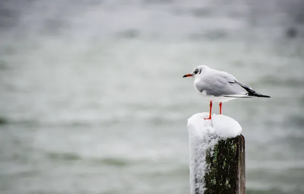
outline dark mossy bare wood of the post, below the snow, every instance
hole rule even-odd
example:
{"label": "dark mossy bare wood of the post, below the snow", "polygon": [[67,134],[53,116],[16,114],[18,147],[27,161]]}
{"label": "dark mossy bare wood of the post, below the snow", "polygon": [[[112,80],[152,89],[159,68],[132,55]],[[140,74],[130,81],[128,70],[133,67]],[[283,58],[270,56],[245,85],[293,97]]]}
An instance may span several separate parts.
{"label": "dark mossy bare wood of the post, below the snow", "polygon": [[[220,140],[206,152],[204,194],[245,194],[245,139],[243,135]],[[201,194],[195,192],[195,194]]]}

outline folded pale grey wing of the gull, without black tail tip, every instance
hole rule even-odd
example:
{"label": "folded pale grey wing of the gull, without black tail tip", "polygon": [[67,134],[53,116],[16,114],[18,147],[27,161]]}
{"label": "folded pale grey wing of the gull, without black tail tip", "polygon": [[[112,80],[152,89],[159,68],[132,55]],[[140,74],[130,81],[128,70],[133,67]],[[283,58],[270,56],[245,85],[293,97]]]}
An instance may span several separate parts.
{"label": "folded pale grey wing of the gull, without black tail tip", "polygon": [[233,95],[234,97],[242,97],[247,96],[247,89],[251,90],[250,87],[237,81],[234,76],[224,71],[215,71],[203,75],[200,80],[195,83],[195,87],[200,92],[205,91],[207,95],[213,96]]}

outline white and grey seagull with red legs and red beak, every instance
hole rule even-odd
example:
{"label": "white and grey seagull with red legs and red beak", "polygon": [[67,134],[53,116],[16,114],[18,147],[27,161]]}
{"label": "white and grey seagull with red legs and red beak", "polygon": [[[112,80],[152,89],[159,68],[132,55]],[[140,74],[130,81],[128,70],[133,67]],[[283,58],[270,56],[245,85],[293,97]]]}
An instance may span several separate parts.
{"label": "white and grey seagull with red legs and red beak", "polygon": [[195,90],[206,100],[210,101],[209,118],[211,119],[212,102],[219,102],[219,113],[222,114],[222,103],[237,98],[262,97],[251,87],[239,82],[233,75],[225,71],[212,69],[206,65],[200,65],[183,78],[193,77]]}

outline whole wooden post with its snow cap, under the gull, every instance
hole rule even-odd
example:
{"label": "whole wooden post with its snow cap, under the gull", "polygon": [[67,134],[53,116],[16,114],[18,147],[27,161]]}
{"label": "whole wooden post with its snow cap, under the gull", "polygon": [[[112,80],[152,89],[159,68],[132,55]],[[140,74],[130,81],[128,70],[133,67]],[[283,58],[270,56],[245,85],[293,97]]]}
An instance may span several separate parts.
{"label": "whole wooden post with its snow cap, under the gull", "polygon": [[245,140],[228,116],[197,113],[188,119],[191,194],[245,193]]}

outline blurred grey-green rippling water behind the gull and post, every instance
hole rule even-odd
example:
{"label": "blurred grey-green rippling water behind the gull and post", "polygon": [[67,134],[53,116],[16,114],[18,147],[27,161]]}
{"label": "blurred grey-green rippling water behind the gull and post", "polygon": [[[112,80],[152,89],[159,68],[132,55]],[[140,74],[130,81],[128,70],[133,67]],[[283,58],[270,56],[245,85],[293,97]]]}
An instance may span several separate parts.
{"label": "blurred grey-green rippling water behind the gull and post", "polygon": [[272,97],[223,104],[247,193],[304,193],[301,0],[1,1],[0,193],[190,193],[201,64]]}

